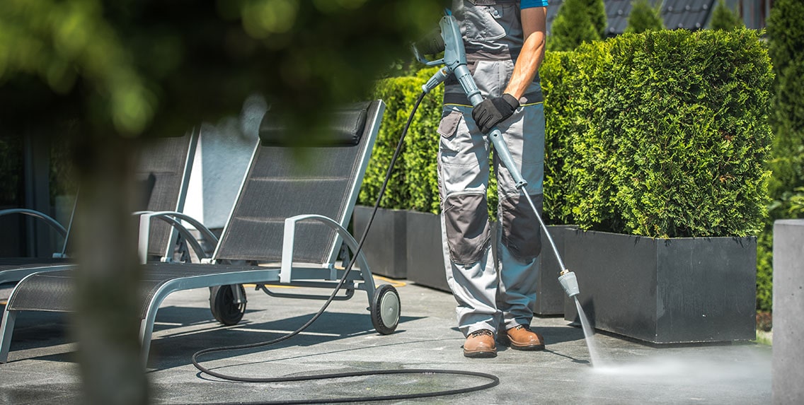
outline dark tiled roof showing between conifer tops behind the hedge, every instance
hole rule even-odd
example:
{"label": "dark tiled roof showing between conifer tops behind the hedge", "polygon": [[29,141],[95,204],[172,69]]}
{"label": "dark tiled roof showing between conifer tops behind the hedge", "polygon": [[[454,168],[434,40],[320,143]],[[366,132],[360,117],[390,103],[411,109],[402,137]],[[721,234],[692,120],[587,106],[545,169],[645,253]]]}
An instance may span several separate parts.
{"label": "dark tiled roof showing between conifer tops behind the hedge", "polygon": [[[632,0],[604,0],[606,14],[606,34],[608,36],[620,35],[626,31],[628,26],[628,16],[631,13]],[[653,5],[657,2],[662,3],[660,15],[664,26],[675,30],[683,28],[687,30],[699,30],[706,26],[715,6],[716,0],[649,0]],[[549,0],[548,6],[548,35],[552,22],[556,19],[556,14],[564,0]]]}

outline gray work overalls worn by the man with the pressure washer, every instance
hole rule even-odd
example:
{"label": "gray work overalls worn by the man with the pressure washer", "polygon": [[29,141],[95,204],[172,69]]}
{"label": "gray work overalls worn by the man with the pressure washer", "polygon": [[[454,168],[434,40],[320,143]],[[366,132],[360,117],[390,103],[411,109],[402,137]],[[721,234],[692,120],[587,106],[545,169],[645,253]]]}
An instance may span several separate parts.
{"label": "gray work overalls worn by the man with the pressure washer", "polygon": [[[519,1],[463,2],[456,16],[466,59],[483,97],[502,96],[523,45]],[[486,6],[480,4],[494,3]],[[453,10],[455,6],[453,6]],[[544,177],[544,106],[539,77],[519,100],[513,116],[498,125],[541,211]],[[472,107],[457,81],[447,82],[438,127],[441,235],[457,321],[468,335],[530,325],[539,272],[539,223],[516,190],[507,168],[493,158],[498,186],[498,227],[488,221],[490,141],[472,119]],[[497,257],[491,258],[491,243]]]}

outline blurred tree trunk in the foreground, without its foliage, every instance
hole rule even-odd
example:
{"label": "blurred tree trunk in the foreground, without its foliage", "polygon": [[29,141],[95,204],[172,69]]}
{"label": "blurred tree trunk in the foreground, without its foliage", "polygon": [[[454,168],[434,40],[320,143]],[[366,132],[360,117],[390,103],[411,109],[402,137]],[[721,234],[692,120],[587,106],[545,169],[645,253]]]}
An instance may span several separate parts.
{"label": "blurred tree trunk in the foreground, without its foliage", "polygon": [[76,148],[81,178],[76,215],[76,317],[85,403],[148,403],[148,382],[138,340],[137,201],[130,139],[87,139]]}

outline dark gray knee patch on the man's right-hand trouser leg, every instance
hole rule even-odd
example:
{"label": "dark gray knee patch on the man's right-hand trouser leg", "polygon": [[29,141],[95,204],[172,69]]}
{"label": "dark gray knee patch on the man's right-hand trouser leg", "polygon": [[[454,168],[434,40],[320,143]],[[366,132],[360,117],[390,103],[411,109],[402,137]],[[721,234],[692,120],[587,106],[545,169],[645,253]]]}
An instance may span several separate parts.
{"label": "dark gray knee patch on the man's right-hand trouser leg", "polygon": [[[532,194],[531,198],[542,211],[542,194]],[[511,255],[520,260],[530,260],[542,251],[539,219],[523,195],[503,198],[500,203],[500,220],[503,225],[502,242]]]}

